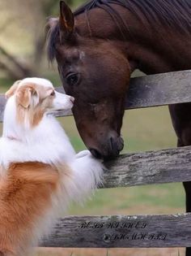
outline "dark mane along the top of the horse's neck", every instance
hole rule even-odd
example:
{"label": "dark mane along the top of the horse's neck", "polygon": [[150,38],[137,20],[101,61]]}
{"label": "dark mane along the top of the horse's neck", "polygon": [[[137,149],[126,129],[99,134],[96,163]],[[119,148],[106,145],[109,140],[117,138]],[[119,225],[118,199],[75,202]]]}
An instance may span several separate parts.
{"label": "dark mane along the top of the horse's neck", "polygon": [[145,19],[143,19],[145,17],[146,25],[159,24],[175,28],[180,33],[191,32],[190,0],[91,0],[74,11],[74,15],[80,15],[98,7],[108,11],[114,18],[113,20],[124,27],[124,21],[121,20],[120,14],[112,4],[125,7],[143,23],[145,23]]}

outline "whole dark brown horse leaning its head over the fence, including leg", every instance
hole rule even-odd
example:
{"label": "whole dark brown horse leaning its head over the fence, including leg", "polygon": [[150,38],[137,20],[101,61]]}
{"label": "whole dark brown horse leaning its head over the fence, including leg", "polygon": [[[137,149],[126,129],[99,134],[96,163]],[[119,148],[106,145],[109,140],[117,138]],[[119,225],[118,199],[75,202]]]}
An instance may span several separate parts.
{"label": "whole dark brown horse leaning its head over the fence, including leg", "polygon": [[[66,93],[74,96],[74,119],[96,157],[123,148],[121,125],[129,77],[191,68],[190,0],[91,0],[74,14],[61,2],[49,21],[49,59]],[[191,145],[191,104],[169,106],[178,145]],[[191,211],[191,184],[185,183]],[[191,256],[191,249],[187,249]]]}

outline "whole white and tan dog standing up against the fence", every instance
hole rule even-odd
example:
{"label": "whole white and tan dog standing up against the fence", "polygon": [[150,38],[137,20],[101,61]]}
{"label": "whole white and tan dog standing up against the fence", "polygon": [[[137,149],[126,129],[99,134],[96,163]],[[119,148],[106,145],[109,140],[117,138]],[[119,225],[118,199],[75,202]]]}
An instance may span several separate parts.
{"label": "whole white and tan dog standing up against the fence", "polygon": [[26,256],[49,233],[61,208],[91,195],[101,182],[103,165],[88,150],[75,154],[61,125],[47,115],[74,103],[49,80],[17,81],[6,98],[0,139],[0,255]]}

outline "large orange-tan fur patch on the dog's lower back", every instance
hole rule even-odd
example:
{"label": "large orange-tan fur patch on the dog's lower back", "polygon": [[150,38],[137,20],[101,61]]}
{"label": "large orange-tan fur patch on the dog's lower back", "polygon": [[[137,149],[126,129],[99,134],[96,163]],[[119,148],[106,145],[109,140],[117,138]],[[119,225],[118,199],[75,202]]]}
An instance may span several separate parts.
{"label": "large orange-tan fur patch on the dog's lower back", "polygon": [[19,256],[19,245],[30,243],[32,228],[49,209],[58,180],[56,167],[49,164],[11,164],[6,179],[0,180],[0,252]]}

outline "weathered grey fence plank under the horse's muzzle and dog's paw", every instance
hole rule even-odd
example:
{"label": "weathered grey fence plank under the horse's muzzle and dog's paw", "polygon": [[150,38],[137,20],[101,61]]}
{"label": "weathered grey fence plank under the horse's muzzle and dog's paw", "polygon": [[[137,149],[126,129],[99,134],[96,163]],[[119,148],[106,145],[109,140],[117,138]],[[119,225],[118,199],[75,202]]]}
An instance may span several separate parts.
{"label": "weathered grey fence plank under the horse's muzzle and dog's paw", "polygon": [[104,188],[191,180],[191,146],[122,154],[106,163]]}

